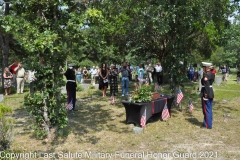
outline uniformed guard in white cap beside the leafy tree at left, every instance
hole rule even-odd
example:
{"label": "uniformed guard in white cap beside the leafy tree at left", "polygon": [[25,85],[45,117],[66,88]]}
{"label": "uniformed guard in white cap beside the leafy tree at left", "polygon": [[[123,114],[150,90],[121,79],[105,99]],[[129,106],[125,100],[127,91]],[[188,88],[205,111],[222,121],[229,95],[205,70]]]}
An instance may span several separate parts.
{"label": "uniformed guard in white cap beside the leafy tree at left", "polygon": [[77,111],[75,109],[75,103],[76,103],[76,88],[77,88],[77,83],[76,83],[76,75],[75,75],[75,70],[74,70],[74,64],[69,64],[69,68],[67,71],[64,73],[67,79],[66,83],[66,90],[67,90],[67,103],[72,103],[72,111]]}

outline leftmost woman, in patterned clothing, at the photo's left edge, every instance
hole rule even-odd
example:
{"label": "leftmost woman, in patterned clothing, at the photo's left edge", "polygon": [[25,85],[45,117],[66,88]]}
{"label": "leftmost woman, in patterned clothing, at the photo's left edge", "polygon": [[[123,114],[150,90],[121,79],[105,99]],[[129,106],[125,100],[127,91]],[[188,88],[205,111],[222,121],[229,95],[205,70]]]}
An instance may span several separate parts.
{"label": "leftmost woman, in patterned clothing, at the photo's left edge", "polygon": [[10,92],[11,92],[12,78],[13,78],[13,75],[12,75],[12,73],[9,71],[9,68],[8,68],[8,67],[6,67],[6,68],[4,69],[3,78],[4,78],[5,96],[7,96],[7,95],[9,95]]}

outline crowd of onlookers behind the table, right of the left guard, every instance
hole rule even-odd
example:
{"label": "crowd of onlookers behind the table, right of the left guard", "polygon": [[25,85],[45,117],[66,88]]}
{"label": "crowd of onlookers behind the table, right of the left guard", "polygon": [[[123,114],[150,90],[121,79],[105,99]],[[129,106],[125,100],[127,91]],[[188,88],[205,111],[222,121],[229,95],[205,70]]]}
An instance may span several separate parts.
{"label": "crowd of onlookers behind the table, right of the left guard", "polygon": [[100,68],[93,66],[89,70],[86,67],[83,67],[83,69],[71,67],[71,69],[74,71],[76,83],[91,79],[93,84],[99,84],[102,97],[106,97],[109,86],[109,95],[116,96],[118,94],[118,84],[121,85],[121,95],[128,95],[129,83],[133,80],[134,72],[136,73],[136,80],[148,78],[149,83],[156,82],[159,85],[163,83],[163,69],[160,62],[153,65],[151,61],[147,61],[145,65],[139,64],[139,66],[133,67],[125,61],[122,65],[111,64],[107,66],[106,63],[103,63]]}

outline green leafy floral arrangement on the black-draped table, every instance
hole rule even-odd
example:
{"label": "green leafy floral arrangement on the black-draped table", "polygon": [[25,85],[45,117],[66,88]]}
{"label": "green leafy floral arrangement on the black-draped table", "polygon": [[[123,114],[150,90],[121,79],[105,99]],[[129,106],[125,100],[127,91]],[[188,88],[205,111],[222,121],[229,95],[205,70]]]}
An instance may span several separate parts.
{"label": "green leafy floral arrangement on the black-draped table", "polygon": [[[150,102],[152,100],[152,86],[149,85],[148,79],[138,79],[139,85],[134,84],[135,91],[132,91],[130,101],[135,102]],[[143,83],[145,81],[145,83]]]}

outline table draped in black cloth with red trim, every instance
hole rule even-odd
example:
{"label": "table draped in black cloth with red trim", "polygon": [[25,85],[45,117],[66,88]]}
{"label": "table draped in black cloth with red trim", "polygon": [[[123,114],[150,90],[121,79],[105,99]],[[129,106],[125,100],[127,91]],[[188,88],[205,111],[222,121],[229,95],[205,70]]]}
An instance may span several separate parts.
{"label": "table draped in black cloth with red trim", "polygon": [[122,101],[122,104],[126,110],[126,123],[134,123],[140,126],[141,117],[146,109],[146,121],[155,114],[162,113],[162,110],[167,102],[168,110],[171,115],[171,106],[174,100],[174,96],[162,95],[161,98],[155,99],[148,103],[129,103],[128,101]]}

